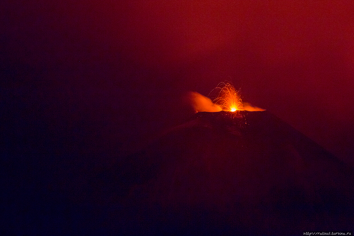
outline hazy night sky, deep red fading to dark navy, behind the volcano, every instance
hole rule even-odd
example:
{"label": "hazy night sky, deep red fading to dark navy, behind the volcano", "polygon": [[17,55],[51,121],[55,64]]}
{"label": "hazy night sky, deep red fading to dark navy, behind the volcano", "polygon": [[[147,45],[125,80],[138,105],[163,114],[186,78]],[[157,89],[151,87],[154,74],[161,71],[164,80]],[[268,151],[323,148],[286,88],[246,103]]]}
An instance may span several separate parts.
{"label": "hazy night sky, deep red fading to dark navy, behind the volcano", "polygon": [[352,1],[39,0],[0,9],[6,178],[29,173],[50,189],[36,173],[69,175],[71,160],[119,162],[193,115],[186,92],[208,96],[224,81],[354,165]]}

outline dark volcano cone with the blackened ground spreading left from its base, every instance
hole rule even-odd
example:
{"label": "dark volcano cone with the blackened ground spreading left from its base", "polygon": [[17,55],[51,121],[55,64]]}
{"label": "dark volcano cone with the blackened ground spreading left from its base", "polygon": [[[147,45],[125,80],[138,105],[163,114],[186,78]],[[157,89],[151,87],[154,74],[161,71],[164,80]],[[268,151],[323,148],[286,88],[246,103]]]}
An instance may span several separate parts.
{"label": "dark volcano cone with the blackened ground spreading left from its base", "polygon": [[268,111],[199,112],[109,165],[45,155],[5,158],[4,234],[353,230],[353,171]]}

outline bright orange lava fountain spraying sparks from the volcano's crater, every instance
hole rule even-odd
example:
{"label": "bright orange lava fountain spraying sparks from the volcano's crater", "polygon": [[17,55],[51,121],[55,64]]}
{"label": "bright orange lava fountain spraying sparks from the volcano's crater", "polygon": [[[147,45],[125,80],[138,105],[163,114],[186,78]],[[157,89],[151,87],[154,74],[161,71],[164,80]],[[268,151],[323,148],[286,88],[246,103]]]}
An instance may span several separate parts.
{"label": "bright orange lava fountain spraying sparks from the volcano's crater", "polygon": [[220,90],[213,103],[219,105],[223,111],[243,111],[244,107],[240,94],[229,83],[220,83],[214,90]]}

